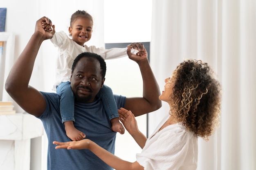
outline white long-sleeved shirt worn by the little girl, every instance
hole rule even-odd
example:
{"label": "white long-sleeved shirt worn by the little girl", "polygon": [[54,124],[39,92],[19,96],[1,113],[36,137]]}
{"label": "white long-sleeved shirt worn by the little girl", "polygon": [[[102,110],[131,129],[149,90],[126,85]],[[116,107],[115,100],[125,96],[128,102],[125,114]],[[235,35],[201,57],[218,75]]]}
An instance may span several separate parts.
{"label": "white long-sleeved shirt worn by the little girl", "polygon": [[[74,59],[82,52],[94,52],[101,55],[103,59],[117,59],[127,57],[127,48],[97,48],[96,46],[80,46],[74,42],[64,31],[56,32],[50,41],[58,47],[56,59],[56,82],[54,90],[61,82],[70,81],[71,69]],[[131,50],[133,52],[133,49]]]}

